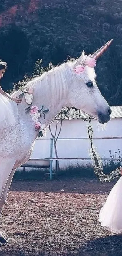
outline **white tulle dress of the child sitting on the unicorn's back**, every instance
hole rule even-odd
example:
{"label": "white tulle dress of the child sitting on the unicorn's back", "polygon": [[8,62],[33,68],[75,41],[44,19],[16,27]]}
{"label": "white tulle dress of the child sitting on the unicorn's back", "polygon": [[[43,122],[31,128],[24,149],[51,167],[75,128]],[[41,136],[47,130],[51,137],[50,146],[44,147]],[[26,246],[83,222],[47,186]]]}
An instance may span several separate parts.
{"label": "white tulle dress of the child sitting on the unicorn's back", "polygon": [[0,93],[0,129],[18,122],[17,103]]}

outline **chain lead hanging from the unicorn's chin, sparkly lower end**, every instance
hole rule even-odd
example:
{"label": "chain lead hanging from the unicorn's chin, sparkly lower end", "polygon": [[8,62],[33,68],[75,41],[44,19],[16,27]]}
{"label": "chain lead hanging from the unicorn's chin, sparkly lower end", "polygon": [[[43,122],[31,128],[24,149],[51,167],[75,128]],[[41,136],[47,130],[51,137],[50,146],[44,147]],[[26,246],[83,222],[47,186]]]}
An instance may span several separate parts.
{"label": "chain lead hanging from the unicorn's chin, sparkly lower end", "polygon": [[88,135],[91,143],[91,150],[90,150],[90,156],[91,160],[93,160],[93,167],[94,167],[94,172],[96,176],[98,176],[99,180],[101,182],[103,181],[108,181],[110,182],[112,179],[115,179],[119,176],[120,174],[120,167],[118,167],[116,170],[111,171],[109,174],[104,174],[103,173],[103,165],[100,157],[98,156],[98,153],[95,152],[92,138],[93,138],[93,130],[91,127],[91,116],[89,118],[84,118],[80,115],[80,110],[75,109],[74,113],[78,115],[82,120],[84,121],[89,121],[89,126],[88,126]]}

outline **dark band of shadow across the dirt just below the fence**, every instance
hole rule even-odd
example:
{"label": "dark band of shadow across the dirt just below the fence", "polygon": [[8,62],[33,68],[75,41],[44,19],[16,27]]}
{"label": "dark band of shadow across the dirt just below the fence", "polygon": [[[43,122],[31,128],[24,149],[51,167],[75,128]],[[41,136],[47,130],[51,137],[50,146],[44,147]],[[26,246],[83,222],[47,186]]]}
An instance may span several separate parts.
{"label": "dark band of shadow across the dirt just below the fence", "polygon": [[117,180],[101,183],[96,179],[67,178],[52,181],[13,181],[11,191],[48,192],[59,193],[63,189],[65,193],[78,194],[106,194],[112,189]]}

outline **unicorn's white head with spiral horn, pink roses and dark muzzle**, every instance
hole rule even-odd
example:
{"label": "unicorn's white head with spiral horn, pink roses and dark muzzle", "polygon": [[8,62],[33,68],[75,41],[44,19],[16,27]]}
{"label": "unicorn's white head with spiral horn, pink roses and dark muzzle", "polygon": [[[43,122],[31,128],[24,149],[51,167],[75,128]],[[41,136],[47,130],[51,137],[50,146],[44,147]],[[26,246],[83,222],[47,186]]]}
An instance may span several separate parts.
{"label": "unicorn's white head with spiral horn, pink roses and dark muzzle", "polygon": [[68,105],[83,110],[100,123],[110,120],[111,109],[97,87],[94,67],[96,60],[107,50],[111,42],[112,40],[89,56],[83,51],[80,58],[73,62],[74,81],[68,90]]}

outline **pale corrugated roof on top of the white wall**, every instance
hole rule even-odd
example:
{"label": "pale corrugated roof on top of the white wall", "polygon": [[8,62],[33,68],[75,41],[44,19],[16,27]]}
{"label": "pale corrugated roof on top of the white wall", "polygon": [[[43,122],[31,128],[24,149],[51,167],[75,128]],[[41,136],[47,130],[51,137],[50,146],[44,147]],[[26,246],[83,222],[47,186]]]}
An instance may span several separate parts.
{"label": "pale corrugated roof on top of the white wall", "polygon": [[[112,110],[111,118],[122,118],[122,106],[111,106],[110,108]],[[74,109],[70,109],[69,115],[70,115],[70,119],[80,119],[80,117],[75,114]],[[80,115],[83,118],[89,118],[88,115],[81,110],[80,110]],[[60,116],[58,118],[61,119]],[[68,117],[65,117],[65,119],[68,119]]]}

